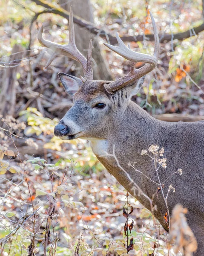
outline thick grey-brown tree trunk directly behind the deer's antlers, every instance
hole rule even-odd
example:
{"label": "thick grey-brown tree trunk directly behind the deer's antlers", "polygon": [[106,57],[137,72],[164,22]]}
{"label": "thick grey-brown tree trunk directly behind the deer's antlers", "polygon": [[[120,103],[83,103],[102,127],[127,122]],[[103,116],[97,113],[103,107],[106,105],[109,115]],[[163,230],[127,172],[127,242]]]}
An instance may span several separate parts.
{"label": "thick grey-brown tree trunk directly behind the deer's antlers", "polygon": [[[77,15],[87,21],[93,23],[92,6],[89,0],[59,0],[60,6],[69,12],[70,6],[73,8],[73,14]],[[106,65],[105,59],[103,58],[98,39],[95,35],[91,34],[87,29],[81,29],[77,24],[75,26],[75,41],[78,50],[87,57],[87,50],[89,47],[89,41],[92,38],[93,49],[93,73],[94,79],[96,80],[112,80],[112,76],[109,68]],[[76,64],[80,67],[80,64]],[[81,69],[80,69],[81,70]],[[82,72],[82,71],[81,71]],[[78,75],[83,76],[83,73]]]}

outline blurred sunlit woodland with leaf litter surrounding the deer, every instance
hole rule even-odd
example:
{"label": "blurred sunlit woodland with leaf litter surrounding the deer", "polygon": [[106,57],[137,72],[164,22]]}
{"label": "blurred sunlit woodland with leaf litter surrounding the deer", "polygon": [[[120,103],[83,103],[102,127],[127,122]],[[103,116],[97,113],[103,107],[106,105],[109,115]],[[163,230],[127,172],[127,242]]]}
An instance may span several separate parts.
{"label": "blurred sunlit woodland with leaf litter surrounding the deer", "polygon": [[[46,39],[67,44],[70,5],[77,47],[86,56],[92,38],[95,79],[103,80],[118,79],[130,69],[129,61],[103,45],[117,44],[115,32],[131,49],[152,54],[150,10],[160,56],[132,100],[158,119],[204,119],[203,2],[2,0],[0,255],[175,255],[151,212],[126,195],[87,141],[62,141],[53,135],[72,106],[57,73],[79,76],[81,68],[59,55],[45,70],[50,52],[40,46],[37,32],[43,23]],[[134,209],[128,237],[127,200]]]}

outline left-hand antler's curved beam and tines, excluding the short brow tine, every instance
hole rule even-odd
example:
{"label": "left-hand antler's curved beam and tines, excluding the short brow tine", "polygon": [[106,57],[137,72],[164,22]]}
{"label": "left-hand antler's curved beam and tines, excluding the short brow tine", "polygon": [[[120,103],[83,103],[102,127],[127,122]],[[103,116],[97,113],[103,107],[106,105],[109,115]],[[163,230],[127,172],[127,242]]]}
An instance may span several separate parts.
{"label": "left-hand antler's curved beam and tines, excluding the short brow tine", "polygon": [[51,41],[45,40],[43,38],[43,28],[44,27],[42,25],[38,32],[37,38],[43,47],[47,47],[49,49],[52,49],[53,51],[51,57],[49,58],[49,61],[46,64],[46,68],[51,64],[51,62],[54,60],[54,58],[57,55],[62,54],[78,61],[83,67],[84,74],[86,74],[86,58],[79,52],[75,44],[75,32],[74,32],[72,6],[70,8],[70,15],[69,15],[69,44],[61,45],[61,44],[56,44]]}

